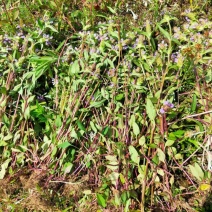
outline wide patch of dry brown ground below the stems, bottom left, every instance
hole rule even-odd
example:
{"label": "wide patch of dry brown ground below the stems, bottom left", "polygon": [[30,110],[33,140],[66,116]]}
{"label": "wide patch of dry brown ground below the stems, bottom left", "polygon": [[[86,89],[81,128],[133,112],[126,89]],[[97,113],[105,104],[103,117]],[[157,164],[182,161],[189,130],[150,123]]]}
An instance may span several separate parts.
{"label": "wide patch of dry brown ground below the stems, bottom left", "polygon": [[[46,171],[24,169],[13,177],[7,176],[0,180],[0,212],[59,212],[66,208],[69,208],[68,212],[98,210],[96,195],[87,186],[87,176],[77,182],[69,179],[66,182],[55,180],[46,184],[47,179]],[[88,198],[84,199],[86,194]],[[58,206],[61,199],[62,203]]]}

